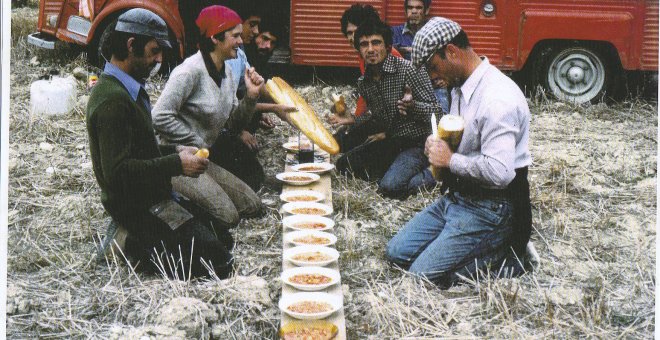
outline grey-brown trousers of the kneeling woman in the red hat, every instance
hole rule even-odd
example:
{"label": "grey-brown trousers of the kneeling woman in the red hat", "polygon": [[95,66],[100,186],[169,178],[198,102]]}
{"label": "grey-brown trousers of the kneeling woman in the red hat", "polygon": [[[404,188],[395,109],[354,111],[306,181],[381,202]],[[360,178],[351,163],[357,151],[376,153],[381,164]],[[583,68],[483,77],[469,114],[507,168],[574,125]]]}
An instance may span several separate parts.
{"label": "grey-brown trousers of the kneeling woman in the red hat", "polygon": [[229,228],[235,227],[242,217],[259,215],[262,211],[259,196],[238,177],[213,162],[198,178],[173,177],[172,188]]}

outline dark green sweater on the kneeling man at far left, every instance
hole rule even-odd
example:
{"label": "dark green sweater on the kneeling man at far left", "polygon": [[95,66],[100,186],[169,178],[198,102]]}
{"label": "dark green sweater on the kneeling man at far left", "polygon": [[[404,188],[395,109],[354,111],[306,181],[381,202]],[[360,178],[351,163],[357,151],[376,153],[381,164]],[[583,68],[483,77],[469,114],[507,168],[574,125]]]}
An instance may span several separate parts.
{"label": "dark green sweater on the kneeling man at far left", "polygon": [[171,178],[183,173],[181,159],[174,146],[158,146],[151,113],[112,76],[101,75],[92,90],[87,132],[101,202],[115,220],[129,222],[171,198]]}

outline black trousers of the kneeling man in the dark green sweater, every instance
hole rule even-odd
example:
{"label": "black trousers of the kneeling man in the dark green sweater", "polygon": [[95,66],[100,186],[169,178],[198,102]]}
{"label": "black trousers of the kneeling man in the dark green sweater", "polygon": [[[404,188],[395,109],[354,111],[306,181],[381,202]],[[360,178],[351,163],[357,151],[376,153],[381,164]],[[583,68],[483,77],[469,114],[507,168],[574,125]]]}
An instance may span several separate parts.
{"label": "black trousers of the kneeling man in the dark green sweater", "polygon": [[148,211],[115,219],[128,231],[126,254],[139,269],[170,278],[209,277],[207,266],[219,278],[229,277],[234,265],[229,230],[192,202],[179,204],[194,217],[176,230]]}

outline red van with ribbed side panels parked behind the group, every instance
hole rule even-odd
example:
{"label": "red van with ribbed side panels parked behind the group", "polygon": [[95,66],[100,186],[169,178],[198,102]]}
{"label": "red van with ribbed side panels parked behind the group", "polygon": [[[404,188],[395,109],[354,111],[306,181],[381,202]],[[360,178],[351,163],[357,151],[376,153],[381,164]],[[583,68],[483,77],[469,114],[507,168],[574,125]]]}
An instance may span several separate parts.
{"label": "red van with ribbed side panels parked behind the group", "polygon": [[[289,60],[297,65],[357,66],[339,26],[343,11],[355,2],[373,5],[390,25],[404,21],[403,0],[274,1],[288,10]],[[179,47],[176,57],[183,58],[179,10],[186,2],[41,0],[38,32],[28,40],[45,48],[53,48],[55,39],[85,45],[94,56],[108,24],[123,11],[142,7],[165,20]],[[624,70],[658,70],[658,0],[438,0],[431,15],[457,21],[492,64],[529,71],[561,99],[595,100]]]}

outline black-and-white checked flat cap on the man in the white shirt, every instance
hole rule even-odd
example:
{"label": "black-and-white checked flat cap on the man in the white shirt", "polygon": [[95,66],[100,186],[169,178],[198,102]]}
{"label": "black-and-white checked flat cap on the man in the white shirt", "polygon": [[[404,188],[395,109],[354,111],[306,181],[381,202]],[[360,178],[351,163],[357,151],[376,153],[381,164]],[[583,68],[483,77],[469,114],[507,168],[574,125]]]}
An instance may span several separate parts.
{"label": "black-and-white checked flat cap on the man in the white shirt", "polygon": [[419,68],[439,49],[447,46],[461,31],[461,26],[443,17],[431,18],[413,40],[412,63]]}

